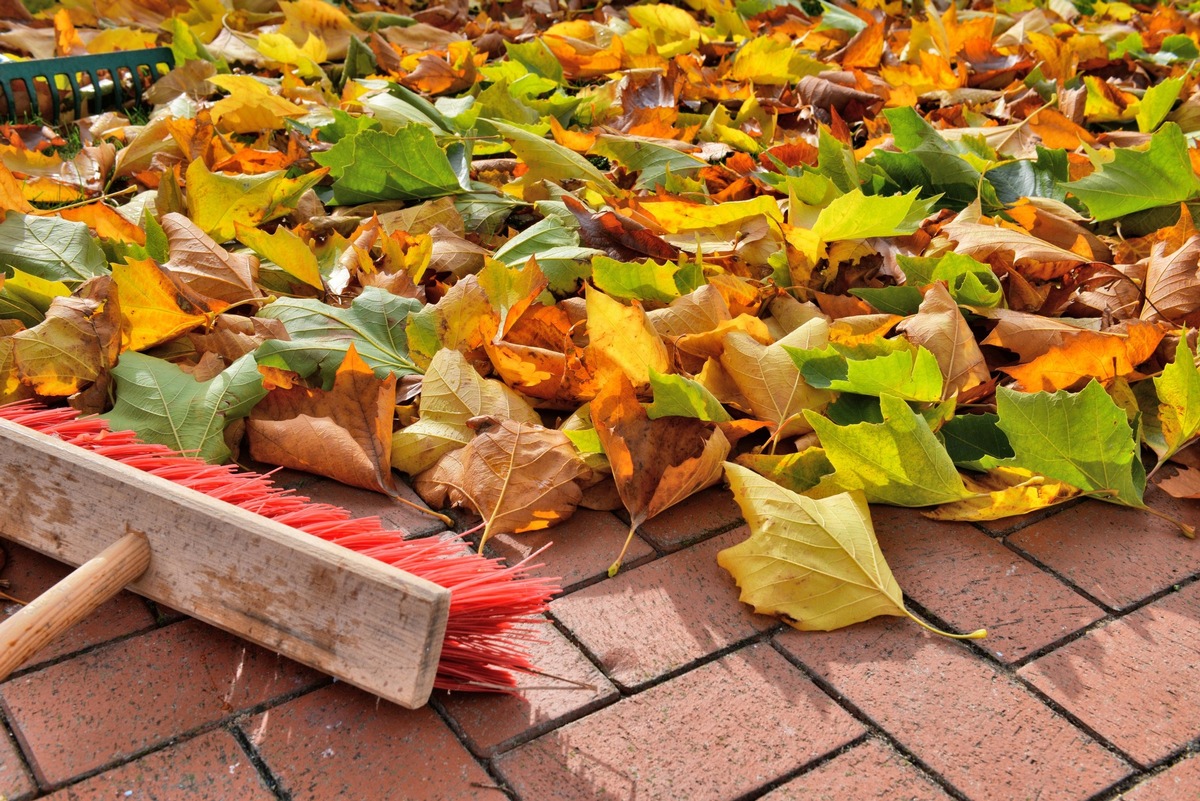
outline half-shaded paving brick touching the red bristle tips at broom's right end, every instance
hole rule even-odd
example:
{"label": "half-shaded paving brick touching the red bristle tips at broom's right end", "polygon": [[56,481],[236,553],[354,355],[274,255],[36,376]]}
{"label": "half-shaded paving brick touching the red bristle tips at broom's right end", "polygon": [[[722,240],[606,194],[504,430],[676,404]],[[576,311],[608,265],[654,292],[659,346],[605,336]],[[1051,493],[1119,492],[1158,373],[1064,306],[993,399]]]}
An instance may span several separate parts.
{"label": "half-shaded paving brick touching the red bristle tips at broom's right end", "polygon": [[612,682],[556,628],[546,626],[539,637],[544,642],[530,648],[530,657],[538,669],[548,675],[518,676],[520,695],[437,694],[475,753],[490,755],[504,751],[516,741],[548,731],[617,697]]}

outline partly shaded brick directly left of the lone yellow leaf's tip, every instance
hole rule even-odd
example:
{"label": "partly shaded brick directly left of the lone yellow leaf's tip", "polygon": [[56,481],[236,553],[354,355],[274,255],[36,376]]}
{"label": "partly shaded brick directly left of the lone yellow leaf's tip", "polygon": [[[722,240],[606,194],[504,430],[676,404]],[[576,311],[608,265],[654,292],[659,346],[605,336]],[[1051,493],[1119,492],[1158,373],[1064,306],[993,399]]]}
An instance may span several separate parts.
{"label": "partly shaded brick directly left of the lone yellow leaf's tip", "polygon": [[738,601],[716,552],[737,529],[551,602],[550,610],[623,687],[636,687],[770,627]]}

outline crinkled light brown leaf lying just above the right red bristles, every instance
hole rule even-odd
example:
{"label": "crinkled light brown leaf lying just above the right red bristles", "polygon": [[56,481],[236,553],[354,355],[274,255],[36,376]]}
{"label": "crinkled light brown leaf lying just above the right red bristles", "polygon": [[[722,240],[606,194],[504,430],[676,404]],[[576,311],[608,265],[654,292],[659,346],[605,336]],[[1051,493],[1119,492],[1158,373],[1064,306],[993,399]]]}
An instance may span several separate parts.
{"label": "crinkled light brown leaf lying just above the right red bristles", "polygon": [[571,517],[590,477],[566,434],[512,420],[484,418],[470,442],[413,480],[433,507],[462,506],[492,535],[538,531]]}

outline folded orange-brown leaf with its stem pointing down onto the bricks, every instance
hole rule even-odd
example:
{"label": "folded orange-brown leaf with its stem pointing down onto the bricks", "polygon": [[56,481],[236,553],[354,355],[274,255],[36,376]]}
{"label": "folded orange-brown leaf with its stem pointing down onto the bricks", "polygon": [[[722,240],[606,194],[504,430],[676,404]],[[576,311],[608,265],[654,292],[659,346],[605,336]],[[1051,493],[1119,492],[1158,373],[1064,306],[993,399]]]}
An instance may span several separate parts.
{"label": "folded orange-brown leaf with its stem pointing down onto the bricks", "polygon": [[613,576],[637,526],[720,480],[730,442],[719,428],[702,420],[650,420],[624,375],[600,389],[592,402],[592,422],[629,512],[625,547],[608,568]]}

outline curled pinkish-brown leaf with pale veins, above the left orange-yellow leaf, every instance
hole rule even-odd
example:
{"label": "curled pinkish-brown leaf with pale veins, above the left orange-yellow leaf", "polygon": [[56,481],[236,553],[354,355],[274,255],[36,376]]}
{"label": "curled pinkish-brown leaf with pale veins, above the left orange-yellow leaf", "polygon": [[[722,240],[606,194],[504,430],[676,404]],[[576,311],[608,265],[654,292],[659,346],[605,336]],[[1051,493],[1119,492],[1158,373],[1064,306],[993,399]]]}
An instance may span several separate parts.
{"label": "curled pinkish-brown leaf with pale veins, above the left orange-yellow leaf", "polygon": [[188,289],[227,303],[263,296],[256,283],[258,259],[229,253],[181,213],[163,215],[162,229],[167,233],[170,252],[170,259],[163,266]]}

